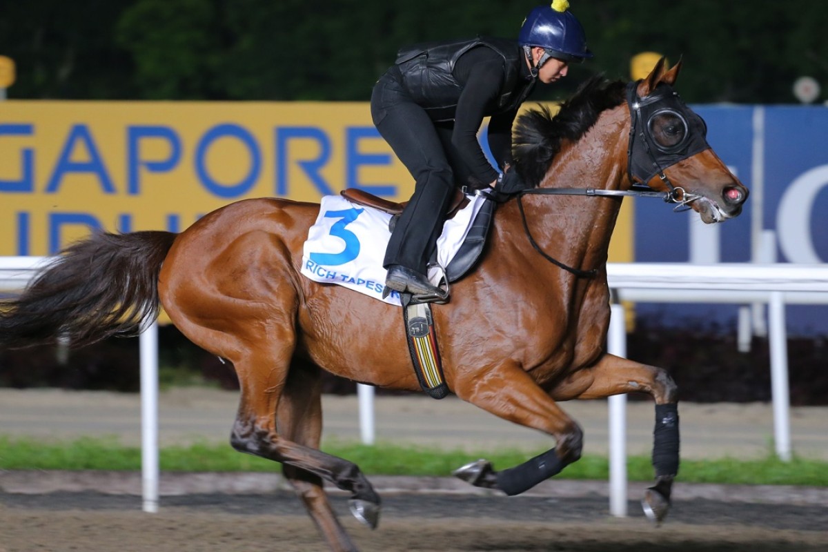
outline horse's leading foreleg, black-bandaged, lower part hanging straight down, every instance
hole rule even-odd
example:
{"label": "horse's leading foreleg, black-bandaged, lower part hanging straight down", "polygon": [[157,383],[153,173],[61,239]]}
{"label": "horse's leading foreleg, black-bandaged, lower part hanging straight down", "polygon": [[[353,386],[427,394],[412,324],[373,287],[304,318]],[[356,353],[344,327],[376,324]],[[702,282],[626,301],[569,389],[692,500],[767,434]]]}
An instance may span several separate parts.
{"label": "horse's leading foreleg, black-bandaged, lower part hanging straight down", "polygon": [[670,509],[673,479],[679,466],[676,382],[666,370],[606,354],[590,368],[576,372],[551,392],[560,400],[599,399],[621,393],[648,393],[656,401],[652,467],[656,484],[642,502],[647,517],[661,522]]}

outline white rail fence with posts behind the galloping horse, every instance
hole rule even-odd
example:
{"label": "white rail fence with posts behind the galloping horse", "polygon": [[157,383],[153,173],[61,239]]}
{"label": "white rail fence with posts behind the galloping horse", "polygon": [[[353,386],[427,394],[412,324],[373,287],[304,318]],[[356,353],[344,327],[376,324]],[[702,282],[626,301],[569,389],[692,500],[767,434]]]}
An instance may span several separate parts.
{"label": "white rail fence with posts behind the galloping horse", "polygon": [[[44,257],[0,257],[0,290],[20,290]],[[620,300],[647,302],[765,303],[770,334],[774,441],[777,455],[791,458],[785,305],[828,305],[828,266],[790,264],[610,263],[609,286]],[[157,327],[141,335],[143,509],[158,507]],[[609,352],[626,356],[623,307],[613,305]],[[374,435],[373,387],[359,386],[359,420],[364,443]],[[626,515],[626,396],[609,398],[610,511]]]}

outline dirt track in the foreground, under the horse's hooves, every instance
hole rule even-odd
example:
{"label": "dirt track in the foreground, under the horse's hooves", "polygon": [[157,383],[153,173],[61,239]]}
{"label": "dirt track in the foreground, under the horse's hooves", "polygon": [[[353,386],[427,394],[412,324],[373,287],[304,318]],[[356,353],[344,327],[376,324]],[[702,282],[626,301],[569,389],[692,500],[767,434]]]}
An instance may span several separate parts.
{"label": "dirt track in the foreground, under the horse's hooves", "polygon": [[[828,510],[814,506],[676,502],[662,527],[631,503],[605,515],[603,497],[390,494],[378,530],[335,506],[361,550],[817,552],[828,550]],[[158,514],[140,499],[95,492],[0,495],[0,550],[240,552],[326,550],[289,492],[169,497]]]}

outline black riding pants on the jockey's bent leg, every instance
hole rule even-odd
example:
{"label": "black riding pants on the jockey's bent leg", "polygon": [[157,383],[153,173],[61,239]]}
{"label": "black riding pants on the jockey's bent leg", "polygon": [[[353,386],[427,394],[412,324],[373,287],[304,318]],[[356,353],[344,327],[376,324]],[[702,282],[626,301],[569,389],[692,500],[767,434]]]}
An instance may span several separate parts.
{"label": "black riding pants on the jockey's bent leg", "polygon": [[436,127],[393,71],[383,74],[374,86],[371,116],[415,181],[414,194],[391,234],[383,266],[402,265],[426,274],[454,194],[454,175],[445,153],[451,129]]}

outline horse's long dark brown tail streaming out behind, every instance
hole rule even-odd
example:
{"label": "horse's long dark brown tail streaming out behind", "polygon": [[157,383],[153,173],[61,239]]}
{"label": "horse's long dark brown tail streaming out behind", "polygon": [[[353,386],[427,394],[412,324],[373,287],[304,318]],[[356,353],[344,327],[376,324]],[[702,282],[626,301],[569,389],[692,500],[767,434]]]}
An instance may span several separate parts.
{"label": "horse's long dark brown tail streaming out behind", "polygon": [[0,348],[140,334],[161,309],[158,274],[176,236],[98,232],[67,247],[22,295],[0,304]]}

